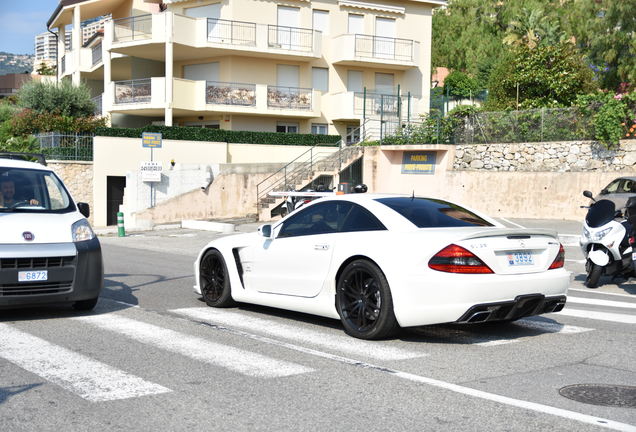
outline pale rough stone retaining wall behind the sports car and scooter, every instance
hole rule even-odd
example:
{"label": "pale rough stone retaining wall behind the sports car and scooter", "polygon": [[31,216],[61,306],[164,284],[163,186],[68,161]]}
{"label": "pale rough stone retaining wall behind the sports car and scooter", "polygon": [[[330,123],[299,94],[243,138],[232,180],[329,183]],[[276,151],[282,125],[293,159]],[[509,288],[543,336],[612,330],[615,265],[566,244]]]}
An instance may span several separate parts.
{"label": "pale rough stone retaining wall behind the sports car and scooter", "polygon": [[457,145],[454,170],[478,171],[632,171],[636,140],[606,149],[595,141]]}

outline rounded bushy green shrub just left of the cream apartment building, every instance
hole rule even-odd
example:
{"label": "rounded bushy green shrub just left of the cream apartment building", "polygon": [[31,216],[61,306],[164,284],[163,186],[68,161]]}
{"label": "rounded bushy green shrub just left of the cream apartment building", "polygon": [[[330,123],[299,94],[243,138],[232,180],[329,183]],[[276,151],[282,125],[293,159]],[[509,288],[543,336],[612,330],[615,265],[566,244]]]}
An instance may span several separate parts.
{"label": "rounded bushy green shrub just left of the cream apartment building", "polygon": [[69,81],[59,84],[31,81],[18,92],[18,106],[36,113],[68,117],[90,117],[95,111],[90,91]]}

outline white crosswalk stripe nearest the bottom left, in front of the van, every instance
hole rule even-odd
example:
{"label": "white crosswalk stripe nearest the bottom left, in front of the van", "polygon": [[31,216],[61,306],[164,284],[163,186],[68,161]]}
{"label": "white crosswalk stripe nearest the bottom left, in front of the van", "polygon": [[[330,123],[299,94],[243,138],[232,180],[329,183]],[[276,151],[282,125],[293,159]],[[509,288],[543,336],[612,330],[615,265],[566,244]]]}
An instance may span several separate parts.
{"label": "white crosswalk stripe nearest the bottom left, in front of the van", "polygon": [[0,357],[91,402],[172,390],[0,324]]}

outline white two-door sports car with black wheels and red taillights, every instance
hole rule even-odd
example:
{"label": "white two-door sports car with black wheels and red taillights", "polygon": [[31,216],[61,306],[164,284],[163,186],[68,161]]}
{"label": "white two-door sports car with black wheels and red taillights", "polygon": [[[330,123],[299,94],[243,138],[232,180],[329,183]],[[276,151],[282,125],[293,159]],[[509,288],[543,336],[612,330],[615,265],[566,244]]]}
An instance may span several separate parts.
{"label": "white two-door sports car with black wheels and red taillights", "polygon": [[400,327],[512,321],[563,309],[570,274],[553,231],[505,228],[432,198],[321,198],[258,232],[210,242],[194,290],[340,319],[363,339]]}

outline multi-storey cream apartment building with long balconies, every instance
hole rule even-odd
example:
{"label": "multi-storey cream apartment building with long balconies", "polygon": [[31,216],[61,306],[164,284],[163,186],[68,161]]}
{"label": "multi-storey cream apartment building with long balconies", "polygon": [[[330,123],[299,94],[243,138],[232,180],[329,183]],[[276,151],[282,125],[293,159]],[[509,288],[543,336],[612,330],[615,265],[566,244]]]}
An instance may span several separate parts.
{"label": "multi-storey cream apartment building with long balconies", "polygon": [[[428,112],[443,0],[62,0],[60,78],[114,126],[349,134]],[[85,44],[82,21],[112,19]],[[356,131],[354,133],[354,131]],[[372,132],[374,133],[374,132]]]}

